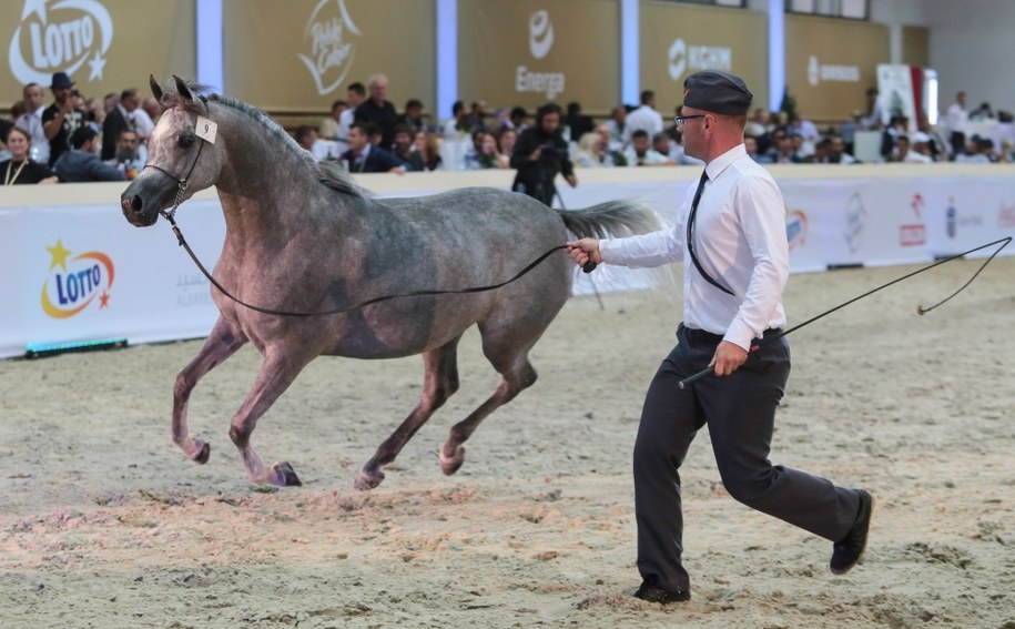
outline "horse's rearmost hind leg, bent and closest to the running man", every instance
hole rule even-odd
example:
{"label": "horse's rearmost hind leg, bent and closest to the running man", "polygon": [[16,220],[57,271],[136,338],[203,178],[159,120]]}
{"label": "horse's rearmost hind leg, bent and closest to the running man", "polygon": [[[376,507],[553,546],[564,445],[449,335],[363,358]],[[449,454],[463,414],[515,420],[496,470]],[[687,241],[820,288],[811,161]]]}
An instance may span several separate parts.
{"label": "horse's rearmost hind leg, bent and closest to the running man", "polygon": [[536,382],[536,369],[528,359],[528,352],[536,343],[516,347],[509,338],[500,342],[484,338],[483,351],[494,367],[504,376],[500,386],[479,408],[451,427],[450,435],[440,450],[440,469],[448,476],[458,471],[465,461],[465,448],[461,446],[471,436],[479,423],[499,406],[510,402]]}

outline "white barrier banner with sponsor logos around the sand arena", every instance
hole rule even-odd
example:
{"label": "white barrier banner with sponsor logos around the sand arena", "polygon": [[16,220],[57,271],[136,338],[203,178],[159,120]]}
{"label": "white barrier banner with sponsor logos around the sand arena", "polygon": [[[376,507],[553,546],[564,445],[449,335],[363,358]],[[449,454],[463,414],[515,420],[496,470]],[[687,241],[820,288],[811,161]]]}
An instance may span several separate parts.
{"label": "white barrier banner with sponsor logos around the sand arena", "polygon": [[[696,180],[589,181],[562,189],[559,201],[577,210],[637,199],[672,221]],[[998,176],[786,177],[780,187],[791,271],[923,263],[1013,235],[1011,182],[1005,171]],[[419,194],[446,190],[419,183]],[[225,237],[219,201],[187,201],[177,222],[202,263],[213,268]],[[115,203],[0,207],[0,264],[8,270],[2,288],[9,298],[0,308],[0,357],[23,355],[30,344],[202,337],[219,316],[207,280],[162,219],[152,227],[133,227]],[[1015,246],[1004,253],[1015,254]],[[651,283],[641,271],[608,265],[577,277],[578,294]]]}

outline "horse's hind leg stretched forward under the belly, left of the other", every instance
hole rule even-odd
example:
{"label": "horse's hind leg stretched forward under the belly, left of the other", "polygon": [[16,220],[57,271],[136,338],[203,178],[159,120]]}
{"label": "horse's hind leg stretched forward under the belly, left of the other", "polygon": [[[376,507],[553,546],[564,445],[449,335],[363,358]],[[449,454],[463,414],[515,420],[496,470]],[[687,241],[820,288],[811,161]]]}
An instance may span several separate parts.
{"label": "horse's hind leg stretched forward under the belly, left of the other", "polygon": [[458,390],[457,351],[460,338],[459,336],[423,355],[426,372],[419,403],[392,436],[380,444],[377,453],[356,475],[356,489],[373,489],[379,485],[384,480],[384,471],[380,468],[395,460],[413,435],[426,424],[435,410],[447,402],[451,394]]}

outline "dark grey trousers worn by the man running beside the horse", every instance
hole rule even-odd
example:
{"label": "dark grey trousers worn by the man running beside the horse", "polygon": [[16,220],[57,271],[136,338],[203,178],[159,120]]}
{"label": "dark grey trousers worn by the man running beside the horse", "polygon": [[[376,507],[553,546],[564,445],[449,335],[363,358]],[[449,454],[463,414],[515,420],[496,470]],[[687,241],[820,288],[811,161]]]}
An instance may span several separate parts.
{"label": "dark grey trousers worn by the man running beside the horse", "polygon": [[649,386],[635,443],[638,570],[643,581],[664,590],[690,589],[681,564],[679,469],[706,424],[730,496],[830,541],[845,537],[860,508],[859,494],[769,460],[775,407],[790,375],[785,337],[751,354],[732,375],[709,376],[687,389],[677,383],[708,367],[722,338],[683,324],[677,337],[677,347]]}

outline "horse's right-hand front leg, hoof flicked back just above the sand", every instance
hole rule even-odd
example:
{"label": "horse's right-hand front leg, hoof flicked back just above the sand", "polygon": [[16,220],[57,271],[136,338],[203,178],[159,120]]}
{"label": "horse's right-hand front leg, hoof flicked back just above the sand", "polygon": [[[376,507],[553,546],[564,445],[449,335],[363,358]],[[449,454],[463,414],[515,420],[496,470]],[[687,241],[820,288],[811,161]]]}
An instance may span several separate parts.
{"label": "horse's right-hand front leg, hoof flicked back just above the sand", "polygon": [[303,367],[313,359],[313,356],[305,359],[301,358],[277,349],[268,349],[265,353],[257,379],[254,381],[254,386],[231,422],[230,437],[240,449],[243,465],[246,466],[246,475],[253,483],[265,483],[283,487],[303,485],[288,463],[275,463],[267,467],[251,445],[251,434],[257,426],[257,419],[293,384],[293,381],[296,379]]}

